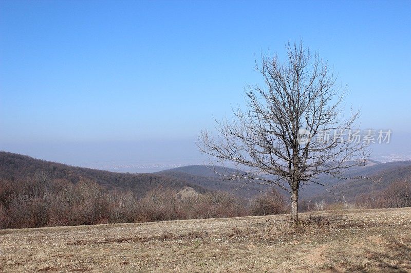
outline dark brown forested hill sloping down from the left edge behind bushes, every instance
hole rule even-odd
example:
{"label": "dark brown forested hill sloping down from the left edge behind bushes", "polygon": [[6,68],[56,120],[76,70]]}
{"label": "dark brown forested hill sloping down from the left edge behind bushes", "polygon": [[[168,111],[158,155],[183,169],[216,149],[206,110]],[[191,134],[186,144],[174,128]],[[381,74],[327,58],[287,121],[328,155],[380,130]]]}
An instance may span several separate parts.
{"label": "dark brown forested hill sloping down from the left edge behind bushes", "polygon": [[66,179],[72,183],[77,183],[81,179],[91,179],[108,189],[129,189],[139,196],[160,185],[175,190],[190,186],[199,193],[207,191],[206,188],[186,180],[161,174],[114,173],[34,159],[25,155],[0,152],[0,180],[11,180],[18,183],[33,177],[39,171],[46,171],[52,179]]}

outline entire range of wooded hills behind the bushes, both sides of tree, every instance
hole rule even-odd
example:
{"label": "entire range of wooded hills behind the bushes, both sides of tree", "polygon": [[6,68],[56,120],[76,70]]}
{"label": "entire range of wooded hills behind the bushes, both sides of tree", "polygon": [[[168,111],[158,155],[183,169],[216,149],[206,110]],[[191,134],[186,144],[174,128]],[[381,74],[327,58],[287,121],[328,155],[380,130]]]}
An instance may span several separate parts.
{"label": "entire range of wooded hills behind the bushes, both sides of tree", "polygon": [[[236,171],[218,166],[215,168],[220,174]],[[64,178],[72,183],[77,183],[80,179],[92,179],[109,189],[119,188],[122,190],[132,190],[140,196],[159,185],[174,188],[178,191],[185,187],[192,187],[198,193],[225,191],[236,196],[247,198],[255,196],[264,190],[264,186],[254,183],[245,184],[245,181],[224,181],[224,177],[206,165],[183,166],[150,174],[130,174],[87,169],[34,159],[19,154],[0,152],[0,179],[24,179],[32,177],[38,170],[47,171],[52,178]],[[370,161],[370,163],[364,167],[349,170],[346,176],[381,178],[381,181],[374,183],[367,179],[341,180],[326,176],[320,176],[320,181],[333,185],[338,184],[338,189],[335,190],[335,192],[343,193],[346,199],[352,201],[357,196],[367,193],[370,190],[382,190],[394,180],[411,179],[411,161],[388,163]],[[341,194],[337,196],[341,196]],[[320,185],[310,184],[302,188],[300,197],[302,199],[335,201],[336,195],[330,194]]]}

